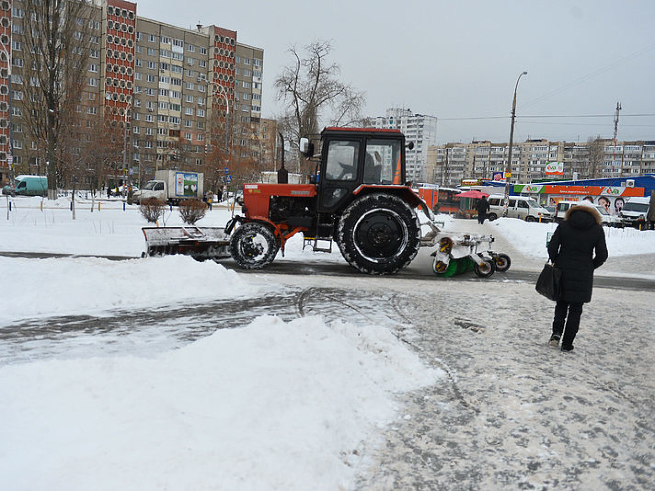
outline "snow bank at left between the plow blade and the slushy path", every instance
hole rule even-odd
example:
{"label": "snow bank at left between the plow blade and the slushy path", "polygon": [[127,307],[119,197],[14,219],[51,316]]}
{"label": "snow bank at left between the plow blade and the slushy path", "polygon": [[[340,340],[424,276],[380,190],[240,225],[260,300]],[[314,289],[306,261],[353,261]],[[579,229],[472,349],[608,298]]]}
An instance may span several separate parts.
{"label": "snow bank at left between the plow blade and the slushy path", "polygon": [[198,263],[183,255],[130,261],[0,257],[0,271],[10,285],[3,289],[0,325],[41,316],[96,315],[112,308],[252,296],[258,291],[214,261]]}

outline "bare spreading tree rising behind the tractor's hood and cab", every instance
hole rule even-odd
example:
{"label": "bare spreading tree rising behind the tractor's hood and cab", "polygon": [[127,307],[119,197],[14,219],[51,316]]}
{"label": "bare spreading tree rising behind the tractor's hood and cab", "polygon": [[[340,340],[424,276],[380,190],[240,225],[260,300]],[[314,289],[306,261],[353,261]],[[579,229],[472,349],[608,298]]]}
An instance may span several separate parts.
{"label": "bare spreading tree rising behind the tractor's hood and cab", "polygon": [[285,67],[274,82],[278,99],[289,104],[278,120],[291,141],[318,134],[322,121],[335,126],[349,124],[358,118],[364,105],[364,94],[339,79],[339,65],[329,60],[332,50],[331,41],[322,40],[302,51],[291,46],[293,64]]}

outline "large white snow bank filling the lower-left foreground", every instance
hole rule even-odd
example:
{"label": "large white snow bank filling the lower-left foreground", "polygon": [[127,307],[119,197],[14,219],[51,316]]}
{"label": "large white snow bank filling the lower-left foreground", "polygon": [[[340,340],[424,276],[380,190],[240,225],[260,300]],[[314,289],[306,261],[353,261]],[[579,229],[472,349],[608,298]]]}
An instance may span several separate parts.
{"label": "large white snow bank filling the lower-left foreground", "polygon": [[352,488],[394,393],[441,376],[386,329],[270,316],[155,358],[2,367],[3,488]]}

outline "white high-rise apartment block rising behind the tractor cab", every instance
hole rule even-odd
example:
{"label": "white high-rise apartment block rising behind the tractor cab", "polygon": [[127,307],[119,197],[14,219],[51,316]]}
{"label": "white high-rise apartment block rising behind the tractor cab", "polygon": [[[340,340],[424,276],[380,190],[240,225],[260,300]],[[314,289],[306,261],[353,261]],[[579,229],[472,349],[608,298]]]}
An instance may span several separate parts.
{"label": "white high-rise apartment block rising behind the tractor cab", "polygon": [[413,149],[405,151],[405,174],[409,181],[424,181],[427,176],[428,148],[437,143],[437,118],[415,114],[411,109],[392,108],[385,116],[371,118],[373,128],[400,130]]}

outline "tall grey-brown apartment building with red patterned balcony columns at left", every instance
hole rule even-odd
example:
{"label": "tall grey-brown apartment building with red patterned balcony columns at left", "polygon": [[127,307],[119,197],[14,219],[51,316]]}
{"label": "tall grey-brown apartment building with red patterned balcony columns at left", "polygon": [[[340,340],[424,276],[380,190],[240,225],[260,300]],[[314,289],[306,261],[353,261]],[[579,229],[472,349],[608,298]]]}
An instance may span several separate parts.
{"label": "tall grey-brown apartment building with red patterned balcony columns at left", "polygon": [[[43,149],[24,131],[20,104],[11,100],[26,83],[19,66],[22,3],[0,1],[3,181],[11,163],[14,173],[45,172]],[[211,158],[224,160],[221,168],[259,158],[263,49],[238,43],[237,32],[225,27],[185,29],[137,12],[138,4],[125,0],[88,4],[90,58],[79,111],[107,121],[114,144],[122,143],[113,177],[136,181],[162,168],[202,167]],[[98,179],[89,171],[86,184]]]}

